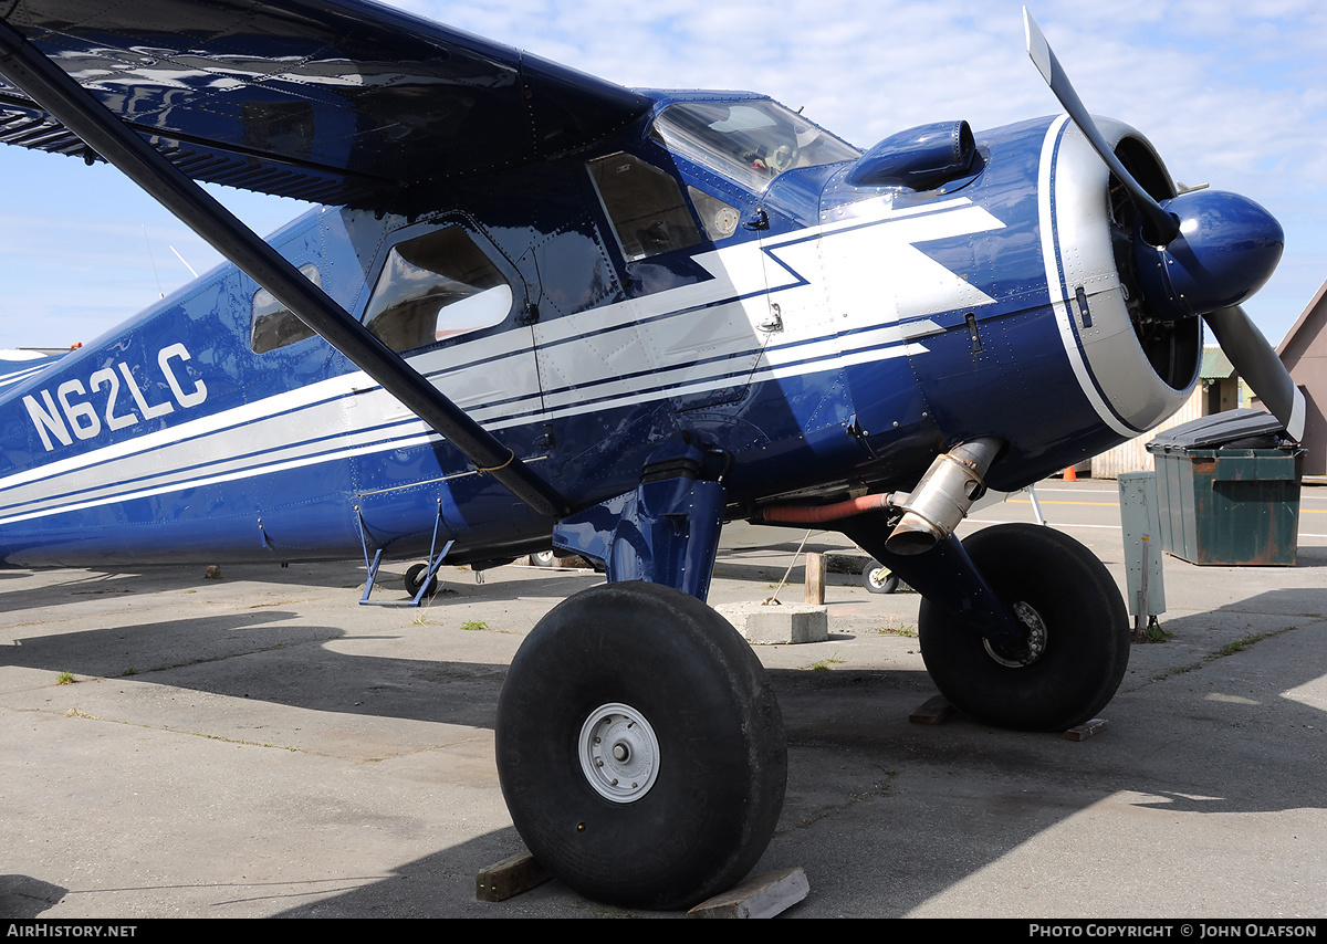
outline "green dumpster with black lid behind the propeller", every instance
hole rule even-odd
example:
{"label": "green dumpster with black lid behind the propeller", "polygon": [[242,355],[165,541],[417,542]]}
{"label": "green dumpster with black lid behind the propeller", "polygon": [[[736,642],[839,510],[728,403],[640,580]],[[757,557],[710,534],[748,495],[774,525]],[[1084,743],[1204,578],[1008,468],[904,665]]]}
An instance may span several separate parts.
{"label": "green dumpster with black lid behind the propeller", "polygon": [[[1237,410],[1168,430],[1148,443],[1157,472],[1161,549],[1190,563],[1295,562],[1299,467],[1304,449],[1273,445],[1275,434],[1222,435],[1262,422]],[[1229,427],[1221,432],[1221,427]],[[1213,434],[1213,428],[1218,432]],[[1237,445],[1271,448],[1235,448]]]}

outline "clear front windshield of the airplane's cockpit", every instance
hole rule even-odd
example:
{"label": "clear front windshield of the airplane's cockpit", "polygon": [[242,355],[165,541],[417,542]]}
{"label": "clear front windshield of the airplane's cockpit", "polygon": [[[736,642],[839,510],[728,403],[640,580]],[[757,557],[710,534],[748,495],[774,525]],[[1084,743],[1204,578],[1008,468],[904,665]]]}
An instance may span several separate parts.
{"label": "clear front windshield of the airplane's cockpit", "polygon": [[670,150],[756,191],[795,167],[861,156],[851,145],[768,99],[670,105],[654,121],[654,134]]}

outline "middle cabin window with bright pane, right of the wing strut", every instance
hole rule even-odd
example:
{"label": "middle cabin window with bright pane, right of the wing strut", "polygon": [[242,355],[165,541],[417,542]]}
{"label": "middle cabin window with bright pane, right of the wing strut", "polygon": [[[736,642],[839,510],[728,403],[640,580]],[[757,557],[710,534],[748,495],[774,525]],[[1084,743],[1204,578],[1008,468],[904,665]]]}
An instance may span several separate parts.
{"label": "middle cabin window with bright pane, right of the wing strut", "polygon": [[449,227],[398,243],[373,289],[365,326],[395,351],[500,325],[511,285],[470,233]]}

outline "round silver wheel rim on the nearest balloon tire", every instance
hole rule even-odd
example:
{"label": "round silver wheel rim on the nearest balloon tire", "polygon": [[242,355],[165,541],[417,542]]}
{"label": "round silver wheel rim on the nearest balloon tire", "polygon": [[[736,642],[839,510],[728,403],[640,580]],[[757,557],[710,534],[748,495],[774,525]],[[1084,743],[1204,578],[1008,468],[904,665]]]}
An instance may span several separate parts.
{"label": "round silver wheel rim on the nearest balloon tire", "polygon": [[598,796],[614,803],[634,803],[658,776],[658,737],[630,705],[600,705],[581,725],[580,761],[581,773]]}

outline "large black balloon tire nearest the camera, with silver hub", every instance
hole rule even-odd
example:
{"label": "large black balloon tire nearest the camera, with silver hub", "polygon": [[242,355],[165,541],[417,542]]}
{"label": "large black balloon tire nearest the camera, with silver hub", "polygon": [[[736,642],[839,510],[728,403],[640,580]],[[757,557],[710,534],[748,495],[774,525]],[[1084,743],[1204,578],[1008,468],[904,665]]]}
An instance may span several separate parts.
{"label": "large black balloon tire nearest the camera, with silver hub", "polygon": [[[644,758],[621,784],[601,731],[624,732],[628,766]],[[600,902],[671,910],[731,888],[783,807],[783,717],[763,666],[727,620],[665,586],[591,587],[539,620],[495,736],[527,847]]]}

